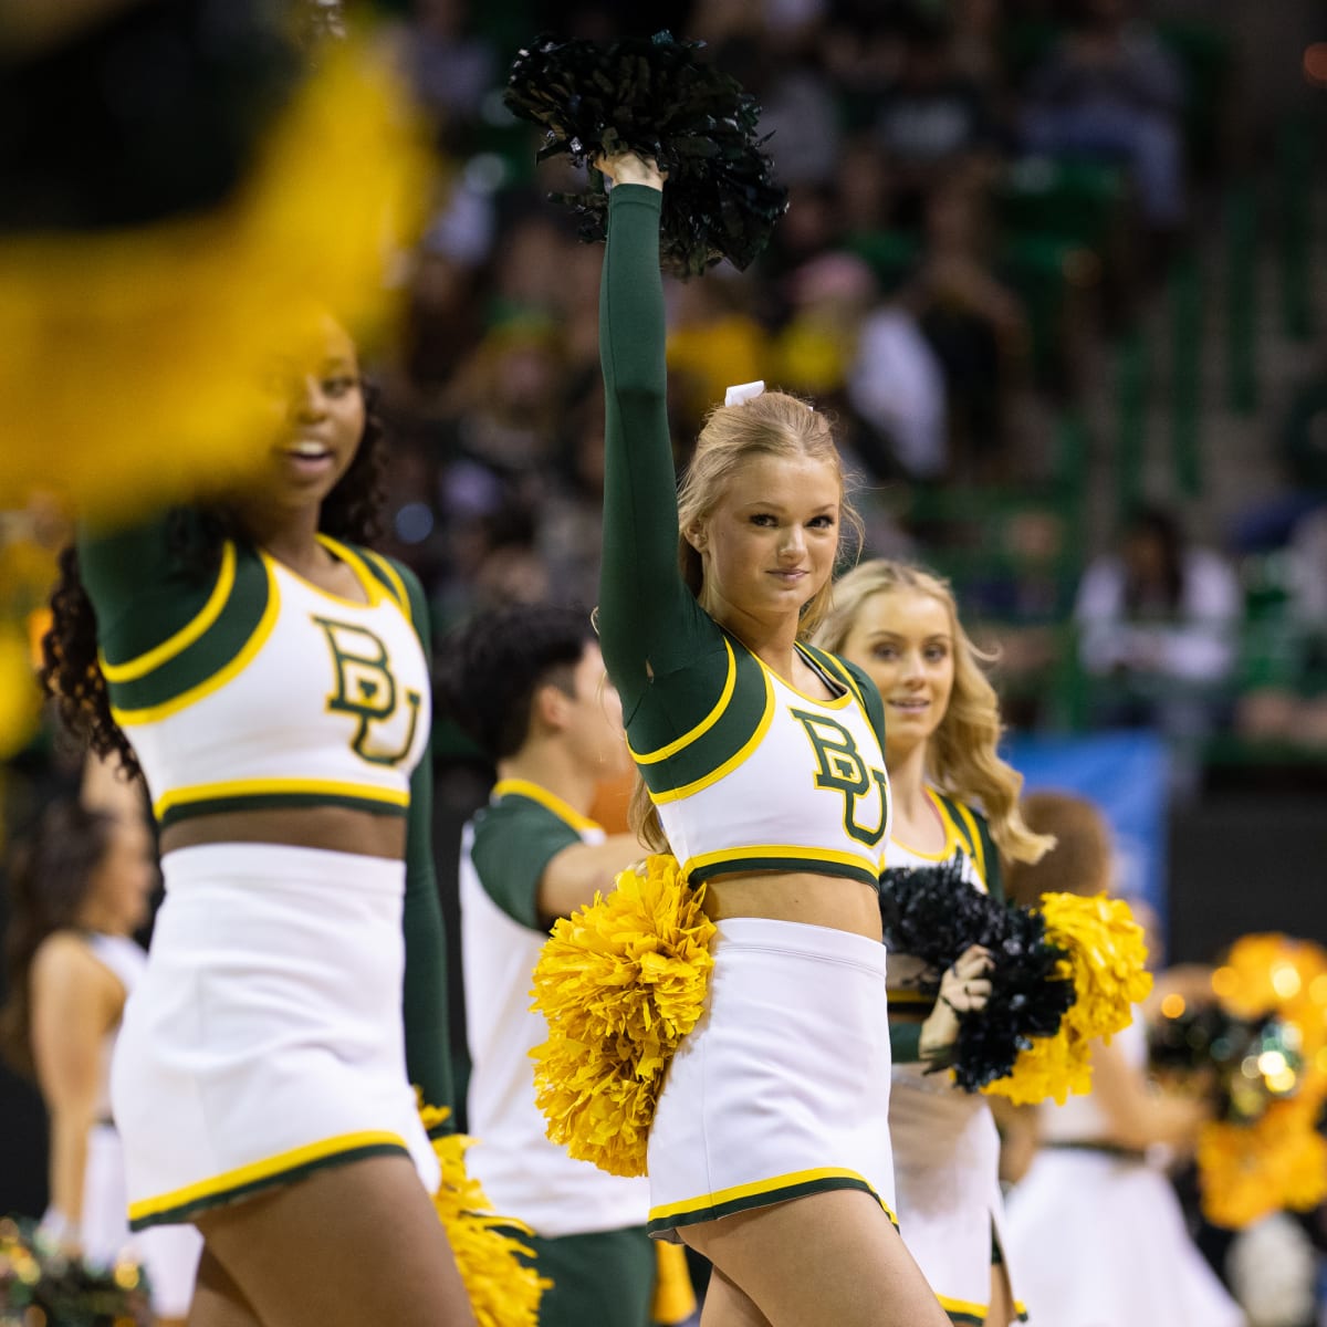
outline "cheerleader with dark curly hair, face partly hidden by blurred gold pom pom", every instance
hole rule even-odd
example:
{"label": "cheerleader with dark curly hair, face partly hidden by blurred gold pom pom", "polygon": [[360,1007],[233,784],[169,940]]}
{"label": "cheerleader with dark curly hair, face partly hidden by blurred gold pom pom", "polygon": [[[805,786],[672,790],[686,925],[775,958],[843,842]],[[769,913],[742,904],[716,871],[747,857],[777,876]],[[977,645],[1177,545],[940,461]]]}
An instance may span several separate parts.
{"label": "cheerleader with dark curly hair, face partly hidden by blurred gold pom pom", "polygon": [[54,594],[46,686],[161,829],[111,1070],[130,1223],[203,1233],[199,1324],[468,1323],[415,1100],[451,1104],[426,608],[364,547],[356,348],[312,346],[252,482],[85,529]]}

